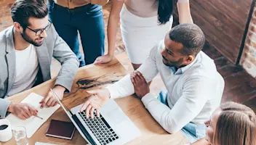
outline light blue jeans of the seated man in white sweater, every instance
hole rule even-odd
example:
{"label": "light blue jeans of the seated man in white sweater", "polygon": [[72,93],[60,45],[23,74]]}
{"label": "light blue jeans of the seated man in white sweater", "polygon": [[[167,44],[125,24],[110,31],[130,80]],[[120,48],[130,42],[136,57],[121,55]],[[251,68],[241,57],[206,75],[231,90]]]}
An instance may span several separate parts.
{"label": "light blue jeans of the seated man in white sweater", "polygon": [[[169,107],[167,102],[167,91],[161,91],[159,96],[157,96],[157,99]],[[205,136],[206,126],[204,124],[196,125],[194,123],[188,123],[180,131],[186,138],[188,138],[188,141],[193,143]]]}

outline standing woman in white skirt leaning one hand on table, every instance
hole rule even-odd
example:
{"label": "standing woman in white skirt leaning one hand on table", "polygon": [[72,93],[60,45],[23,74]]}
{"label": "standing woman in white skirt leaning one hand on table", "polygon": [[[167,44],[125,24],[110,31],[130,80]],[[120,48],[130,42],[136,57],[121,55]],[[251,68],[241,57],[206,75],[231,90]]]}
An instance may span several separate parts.
{"label": "standing woman in white skirt leaning one hand on table", "polygon": [[[108,54],[97,57],[95,64],[113,59],[116,31],[121,17],[121,35],[135,70],[149,52],[172,28],[172,0],[112,0],[108,20]],[[189,0],[178,0],[180,23],[193,23]]]}

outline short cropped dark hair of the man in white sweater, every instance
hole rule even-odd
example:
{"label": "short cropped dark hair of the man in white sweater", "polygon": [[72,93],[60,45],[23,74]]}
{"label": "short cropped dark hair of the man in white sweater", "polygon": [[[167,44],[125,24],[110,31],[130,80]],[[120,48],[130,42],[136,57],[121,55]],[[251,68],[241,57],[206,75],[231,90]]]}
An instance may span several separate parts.
{"label": "short cropped dark hair of the man in white sweater", "polygon": [[194,55],[199,53],[204,47],[204,33],[195,24],[180,24],[176,25],[169,33],[169,38],[172,41],[182,43],[183,49],[180,51],[183,55]]}

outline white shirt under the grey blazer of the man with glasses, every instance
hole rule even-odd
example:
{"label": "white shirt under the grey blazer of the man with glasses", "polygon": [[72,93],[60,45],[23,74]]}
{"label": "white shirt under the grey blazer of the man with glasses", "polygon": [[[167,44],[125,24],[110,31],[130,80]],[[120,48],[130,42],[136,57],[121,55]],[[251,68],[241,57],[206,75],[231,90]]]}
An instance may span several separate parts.
{"label": "white shirt under the grey blazer of the man with glasses", "polygon": [[32,44],[22,51],[15,50],[15,57],[15,82],[7,96],[32,88],[39,71],[36,48]]}

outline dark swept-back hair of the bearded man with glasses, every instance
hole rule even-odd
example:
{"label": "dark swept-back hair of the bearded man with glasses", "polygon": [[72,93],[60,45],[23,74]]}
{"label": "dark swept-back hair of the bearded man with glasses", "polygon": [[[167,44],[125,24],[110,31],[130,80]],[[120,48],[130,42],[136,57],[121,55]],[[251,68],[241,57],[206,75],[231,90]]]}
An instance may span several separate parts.
{"label": "dark swept-back hair of the bearded man with glasses", "polygon": [[25,28],[30,17],[44,18],[48,14],[47,4],[44,0],[17,0],[11,8],[13,22],[19,22]]}

